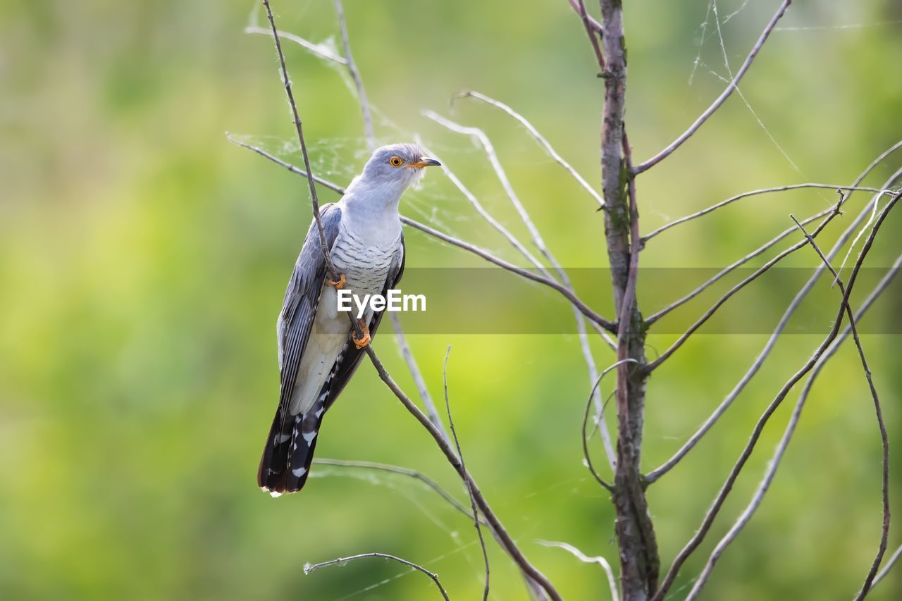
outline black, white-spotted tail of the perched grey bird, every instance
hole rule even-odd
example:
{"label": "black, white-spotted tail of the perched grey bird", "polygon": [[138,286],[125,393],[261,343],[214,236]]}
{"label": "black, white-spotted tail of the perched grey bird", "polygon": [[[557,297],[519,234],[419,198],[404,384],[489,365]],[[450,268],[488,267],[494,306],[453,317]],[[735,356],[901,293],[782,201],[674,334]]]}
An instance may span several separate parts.
{"label": "black, white-spotted tail of the perched grey bird", "polygon": [[283,416],[287,407],[276,411],[257,470],[257,485],[272,496],[297,493],[307,482],[326,396],[327,392],[320,394],[306,413]]}

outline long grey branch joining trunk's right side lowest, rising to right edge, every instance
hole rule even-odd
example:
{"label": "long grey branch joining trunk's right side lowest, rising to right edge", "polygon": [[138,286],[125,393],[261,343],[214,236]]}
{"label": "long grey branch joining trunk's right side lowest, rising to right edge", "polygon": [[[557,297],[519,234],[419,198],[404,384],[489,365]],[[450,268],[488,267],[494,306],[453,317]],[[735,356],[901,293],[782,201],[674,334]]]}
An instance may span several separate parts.
{"label": "long grey branch joining trunk's right side lowest, rising to right edge", "polygon": [[[875,159],[873,162],[870,163],[870,165],[868,166],[867,169],[865,169],[864,171],[861,172],[861,175],[855,181],[855,185],[857,186],[859,183],[861,183],[861,181],[864,180],[864,178],[866,178],[868,176],[870,171],[873,171],[873,169],[875,167],[877,167],[877,165],[879,165],[880,162],[882,162],[884,159],[886,159],[889,156],[889,154],[895,152],[897,150],[897,148],[899,148],[899,147],[902,147],[902,142],[898,142],[898,143],[894,144],[887,151],[885,151],[884,153],[881,153],[879,155],[879,157],[877,157],[877,159]],[[893,184],[893,182],[895,180],[897,180],[897,178],[899,178],[899,177],[902,177],[902,169],[899,169],[896,172],[894,172],[892,175],[890,175],[889,179],[886,181],[886,183],[884,183],[881,190],[885,190],[885,189],[889,188]],[[840,200],[841,206],[844,205],[845,202],[848,201],[848,199],[851,196],[851,193],[852,192],[850,191],[847,194],[842,196],[842,199]],[[858,217],[855,217],[852,220],[851,224],[849,224],[849,227],[846,227],[845,231],[842,232],[842,235],[839,237],[839,239],[833,245],[833,248],[830,250],[830,253],[827,254],[827,258],[832,259],[833,256],[835,254],[837,254],[840,251],[840,249],[842,249],[842,245],[845,245],[845,243],[849,240],[852,233],[855,231],[855,228],[858,227],[858,225],[861,223],[861,221],[870,213],[871,203],[876,203],[877,199],[879,199],[879,197],[874,196],[870,200],[870,202],[868,202],[867,204],[865,204],[865,206],[863,208],[861,208],[861,212],[858,214]],[[828,210],[833,210],[833,209],[828,209]],[[818,216],[815,216],[815,217],[818,217]],[[808,221],[809,221],[809,219],[806,219],[802,223],[806,224]],[[795,229],[795,228],[793,228],[793,229]],[[745,389],[745,386],[750,383],[751,378],[753,378],[755,376],[755,374],[758,373],[759,369],[761,368],[761,365],[764,365],[764,361],[768,358],[768,356],[770,355],[770,352],[774,349],[774,347],[777,346],[777,341],[778,341],[780,335],[783,333],[783,330],[787,327],[787,323],[789,323],[789,319],[792,318],[793,314],[796,312],[796,309],[798,309],[798,307],[802,304],[802,301],[805,301],[805,297],[808,295],[808,292],[810,292],[815,287],[815,283],[817,283],[817,280],[821,277],[821,274],[824,273],[824,271],[826,271],[826,269],[824,268],[824,265],[818,265],[818,267],[815,268],[815,273],[813,273],[812,276],[810,278],[808,278],[808,281],[805,282],[805,285],[802,286],[802,289],[800,291],[798,291],[795,298],[793,298],[793,300],[790,301],[789,306],[787,307],[787,310],[785,310],[783,312],[783,315],[780,317],[777,326],[774,328],[774,331],[770,334],[770,337],[768,338],[768,342],[764,345],[764,348],[761,349],[761,352],[758,354],[758,356],[755,357],[755,360],[752,362],[752,364],[750,365],[750,367],[746,371],[746,373],[742,375],[740,381],[735,386],[733,386],[732,391],[730,391],[730,393],[727,394],[727,396],[723,399],[721,404],[717,406],[717,409],[715,409],[713,411],[713,413],[711,414],[711,416],[709,416],[708,419],[705,420],[704,423],[699,427],[699,429],[695,431],[695,433],[692,435],[692,437],[690,439],[688,439],[686,441],[686,443],[682,447],[679,448],[679,450],[676,451],[674,456],[667,459],[667,461],[664,464],[662,464],[660,467],[654,469],[653,471],[651,471],[649,473],[648,476],[646,476],[646,481],[649,484],[654,482],[655,480],[657,480],[660,476],[664,476],[665,474],[667,474],[667,472],[670,471],[670,469],[672,469],[674,466],[676,466],[676,464],[679,463],[679,461],[682,458],[686,457],[686,454],[690,450],[692,450],[692,448],[695,447],[695,444],[698,443],[698,441],[701,440],[709,430],[711,430],[714,423],[716,423],[720,419],[720,417],[723,415],[723,413],[726,412],[726,410],[732,405],[732,402],[735,401],[736,398],[740,395],[740,393]]]}

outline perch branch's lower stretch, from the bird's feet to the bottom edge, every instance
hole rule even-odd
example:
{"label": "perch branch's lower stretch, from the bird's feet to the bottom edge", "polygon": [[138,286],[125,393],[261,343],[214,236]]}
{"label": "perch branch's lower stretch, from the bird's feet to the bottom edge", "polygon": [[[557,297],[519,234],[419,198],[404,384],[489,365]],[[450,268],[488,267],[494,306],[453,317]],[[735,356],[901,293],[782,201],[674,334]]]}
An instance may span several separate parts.
{"label": "perch branch's lower stretch, from the bird's feet to the bottom edge", "polygon": [[465,484],[469,487],[470,491],[473,494],[473,499],[476,504],[476,507],[479,509],[479,512],[483,514],[485,517],[485,521],[488,522],[492,532],[495,534],[495,538],[499,541],[499,544],[502,545],[502,549],[504,549],[507,554],[513,559],[514,563],[527,575],[527,577],[531,580],[532,583],[535,583],[539,589],[544,592],[548,596],[548,598],[552,599],[552,601],[560,601],[561,596],[557,593],[555,587],[548,581],[548,578],[545,577],[541,572],[538,571],[532,564],[529,563],[529,560],[523,555],[522,551],[517,547],[516,543],[511,539],[511,535],[504,529],[504,526],[501,522],[499,522],[498,518],[495,516],[494,512],[492,512],[492,508],[486,502],[485,497],[483,496],[482,491],[479,489],[479,486],[476,485],[470,473],[467,472],[464,467],[461,465],[459,458],[453,448],[450,447],[447,439],[442,436],[440,430],[438,430],[435,425],[429,421],[429,418],[426,416],[423,411],[419,410],[416,403],[410,400],[410,397],[404,393],[400,389],[397,383],[391,378],[391,375],[385,371],[385,366],[382,365],[382,361],[379,360],[379,357],[376,356],[373,351],[373,345],[369,345],[364,347],[366,351],[366,355],[370,357],[370,361],[373,363],[373,367],[376,369],[376,373],[379,374],[380,379],[384,382],[392,393],[398,398],[401,404],[404,405],[404,408],[413,415],[417,421],[419,421],[422,426],[428,430],[429,434],[432,436],[432,439],[436,441],[438,448],[445,454],[445,457],[448,460],[448,463],[451,464],[451,467],[454,467],[457,475],[464,480]]}

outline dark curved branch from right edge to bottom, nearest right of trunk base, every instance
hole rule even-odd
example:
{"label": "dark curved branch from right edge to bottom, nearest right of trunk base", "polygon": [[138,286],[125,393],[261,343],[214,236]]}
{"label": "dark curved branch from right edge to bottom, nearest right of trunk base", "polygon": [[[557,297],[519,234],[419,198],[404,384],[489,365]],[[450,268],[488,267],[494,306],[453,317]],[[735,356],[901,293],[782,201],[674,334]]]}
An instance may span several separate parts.
{"label": "dark curved branch from right edge to bottom, nearest right of trunk base", "polygon": [[[893,199],[891,199],[886,208],[884,208],[880,212],[879,219],[877,223],[874,224],[873,229],[870,232],[870,236],[868,236],[867,241],[861,249],[861,254],[858,256],[858,260],[855,262],[855,266],[852,269],[851,275],[849,277],[849,284],[846,287],[846,291],[842,295],[842,305],[840,306],[835,319],[833,319],[833,328],[831,328],[830,333],[827,337],[824,338],[824,341],[820,344],[817,349],[815,349],[815,353],[808,359],[805,365],[799,369],[796,374],[794,374],[786,384],[780,389],[777,396],[773,401],[770,402],[768,408],[764,411],[764,413],[759,418],[758,422],[755,424],[754,430],[752,430],[749,441],[746,443],[745,448],[742,449],[742,453],[740,458],[736,461],[735,465],[733,465],[730,475],[727,476],[726,481],[723,483],[720,492],[714,498],[713,504],[708,509],[708,512],[705,513],[704,520],[698,530],[695,532],[695,535],[686,543],[686,546],[681,550],[674,559],[673,564],[670,569],[667,571],[667,576],[664,578],[664,582],[661,583],[661,587],[655,596],[652,597],[652,601],[661,601],[664,596],[667,594],[667,590],[673,585],[674,579],[676,578],[677,573],[679,572],[680,567],[686,562],[686,559],[698,548],[698,546],[704,541],[705,535],[710,531],[711,525],[714,521],[714,518],[717,516],[717,513],[720,511],[721,507],[723,507],[724,501],[726,501],[727,495],[730,494],[732,490],[732,485],[735,483],[736,478],[739,476],[739,473],[742,470],[742,467],[745,466],[746,462],[751,456],[752,451],[755,448],[755,445],[758,442],[758,439],[761,435],[761,432],[764,430],[765,425],[770,419],[770,416],[777,411],[780,403],[786,398],[789,391],[796,385],[796,383],[801,380],[805,374],[810,372],[812,368],[817,364],[820,360],[821,356],[824,355],[824,351],[830,347],[833,343],[833,340],[837,337],[840,331],[840,327],[842,326],[842,316],[845,312],[846,305],[849,302],[849,297],[851,296],[851,291],[854,288],[855,282],[858,278],[858,274],[861,271],[861,265],[864,263],[865,257],[870,252],[870,247],[873,245],[874,238],[877,236],[879,232],[880,226],[882,226],[883,221],[886,219],[890,209],[892,209],[897,200],[902,197],[902,193],[897,194]],[[808,241],[805,240],[805,243]],[[704,583],[703,583],[704,585]],[[700,588],[699,582],[696,582],[695,587],[693,588],[693,592],[690,593],[690,596],[687,598],[695,598],[697,595],[697,589]]]}

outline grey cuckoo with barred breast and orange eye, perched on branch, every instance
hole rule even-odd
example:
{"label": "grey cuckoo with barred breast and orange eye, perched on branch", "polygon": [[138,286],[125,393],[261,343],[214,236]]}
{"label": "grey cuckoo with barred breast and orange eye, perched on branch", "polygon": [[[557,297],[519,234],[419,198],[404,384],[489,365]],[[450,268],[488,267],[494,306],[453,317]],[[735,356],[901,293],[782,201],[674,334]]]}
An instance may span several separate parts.
{"label": "grey cuckoo with barred breast and orange eye, perched on branch", "polygon": [[440,164],[410,143],[373,151],[345,195],[320,209],[334,274],[328,273],[318,226],[311,222],[276,321],[279,407],[257,470],[257,485],[272,496],[298,492],[307,482],[323,416],[354,375],[382,319],[384,311],[368,308],[358,319],[357,337],[351,319],[338,310],[338,291],[363,299],[397,286],[405,259],[401,195],[426,167]]}

